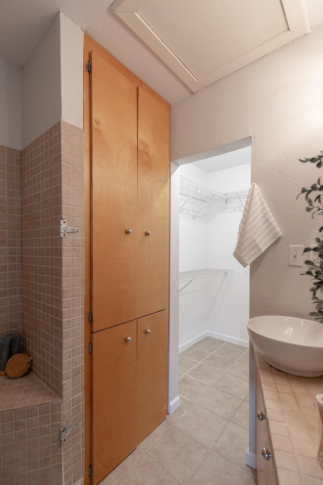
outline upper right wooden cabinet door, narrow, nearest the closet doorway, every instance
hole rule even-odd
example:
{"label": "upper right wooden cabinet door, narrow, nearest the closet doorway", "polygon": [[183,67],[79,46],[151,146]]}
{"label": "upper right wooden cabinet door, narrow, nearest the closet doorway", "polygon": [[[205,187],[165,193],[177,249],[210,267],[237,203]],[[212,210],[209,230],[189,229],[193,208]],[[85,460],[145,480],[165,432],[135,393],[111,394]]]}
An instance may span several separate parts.
{"label": "upper right wooden cabinet door, narrow, nearest the closet doorway", "polygon": [[168,308],[170,106],[138,87],[138,317]]}

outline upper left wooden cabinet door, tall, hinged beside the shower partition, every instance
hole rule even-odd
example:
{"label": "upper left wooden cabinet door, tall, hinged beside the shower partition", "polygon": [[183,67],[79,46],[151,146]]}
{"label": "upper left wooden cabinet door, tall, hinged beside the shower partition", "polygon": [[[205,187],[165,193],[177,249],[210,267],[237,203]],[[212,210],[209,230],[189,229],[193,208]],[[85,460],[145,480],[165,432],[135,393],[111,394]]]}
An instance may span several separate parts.
{"label": "upper left wooden cabinet door, tall, hinged beside the shower partition", "polygon": [[91,109],[92,313],[98,331],[137,318],[137,86],[93,52]]}

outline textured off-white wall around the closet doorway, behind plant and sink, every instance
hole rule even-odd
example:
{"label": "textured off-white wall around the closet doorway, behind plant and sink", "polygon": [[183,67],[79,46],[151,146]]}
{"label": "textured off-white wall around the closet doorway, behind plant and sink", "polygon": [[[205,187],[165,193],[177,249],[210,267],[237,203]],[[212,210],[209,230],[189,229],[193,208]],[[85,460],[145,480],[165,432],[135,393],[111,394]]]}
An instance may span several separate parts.
{"label": "textured off-white wall around the closet doorway, behind plant and sink", "polygon": [[310,280],[287,266],[320,221],[295,198],[319,176],[301,157],[323,149],[323,28],[172,105],[172,160],[252,137],[252,181],[283,233],[250,268],[250,316],[308,318]]}

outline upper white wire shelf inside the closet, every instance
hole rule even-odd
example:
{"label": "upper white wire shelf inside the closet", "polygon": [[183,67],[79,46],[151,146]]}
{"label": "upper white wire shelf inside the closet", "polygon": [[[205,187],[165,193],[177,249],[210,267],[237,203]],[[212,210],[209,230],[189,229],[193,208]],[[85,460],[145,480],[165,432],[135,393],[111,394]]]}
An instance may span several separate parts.
{"label": "upper white wire shelf inside the closet", "polygon": [[201,212],[204,207],[213,202],[220,202],[222,204],[228,204],[230,202],[239,200],[242,207],[243,201],[246,199],[249,189],[236,190],[233,192],[218,192],[213,190],[202,183],[191,180],[188,177],[180,176],[180,195],[184,196],[186,199],[180,206],[180,210],[189,202],[195,202],[200,207],[200,209],[194,214],[193,218]]}

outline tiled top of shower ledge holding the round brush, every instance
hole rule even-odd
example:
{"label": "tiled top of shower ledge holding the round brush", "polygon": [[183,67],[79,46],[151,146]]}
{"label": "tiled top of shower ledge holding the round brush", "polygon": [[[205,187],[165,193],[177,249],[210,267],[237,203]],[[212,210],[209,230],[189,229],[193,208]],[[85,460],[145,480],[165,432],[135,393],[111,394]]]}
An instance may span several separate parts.
{"label": "tiled top of shower ledge holding the round brush", "polygon": [[17,379],[0,377],[0,412],[60,402],[61,399],[31,372]]}

